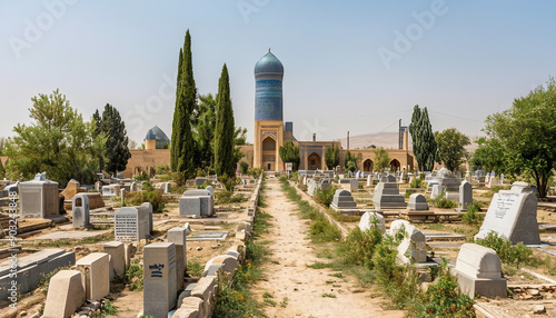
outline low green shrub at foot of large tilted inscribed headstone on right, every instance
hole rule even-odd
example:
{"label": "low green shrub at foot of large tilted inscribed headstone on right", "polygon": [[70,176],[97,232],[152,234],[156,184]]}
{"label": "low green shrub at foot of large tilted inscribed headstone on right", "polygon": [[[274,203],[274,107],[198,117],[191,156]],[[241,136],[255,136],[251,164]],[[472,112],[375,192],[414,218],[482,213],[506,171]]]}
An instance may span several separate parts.
{"label": "low green shrub at foot of large tilted inscribed headstone on right", "polygon": [[510,266],[520,267],[522,265],[529,265],[537,267],[540,261],[533,256],[533,250],[523,242],[513,245],[504,236],[497,232],[489,232],[486,239],[477,240],[477,244],[489,247],[496,251],[500,257],[500,261]]}

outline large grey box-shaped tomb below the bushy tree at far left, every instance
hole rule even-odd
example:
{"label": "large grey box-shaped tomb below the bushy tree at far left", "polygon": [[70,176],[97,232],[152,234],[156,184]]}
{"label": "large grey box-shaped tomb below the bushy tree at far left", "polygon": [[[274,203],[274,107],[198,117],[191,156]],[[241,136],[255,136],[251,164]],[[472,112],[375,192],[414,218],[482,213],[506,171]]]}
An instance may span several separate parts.
{"label": "large grey box-shaped tomb below the bushy tree at far left", "polygon": [[19,183],[19,202],[22,219],[47,219],[60,215],[58,182],[37,173],[33,180]]}

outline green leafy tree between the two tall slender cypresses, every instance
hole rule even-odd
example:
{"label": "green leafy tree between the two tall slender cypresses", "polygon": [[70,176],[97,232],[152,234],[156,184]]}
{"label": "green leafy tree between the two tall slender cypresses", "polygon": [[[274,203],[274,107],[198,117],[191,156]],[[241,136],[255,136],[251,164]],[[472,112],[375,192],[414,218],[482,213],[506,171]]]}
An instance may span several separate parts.
{"label": "green leafy tree between the two tall slender cypresses", "polygon": [[200,103],[193,121],[193,139],[196,145],[196,167],[212,168],[215,161],[215,128],[216,128],[216,99],[211,93],[199,95]]}

